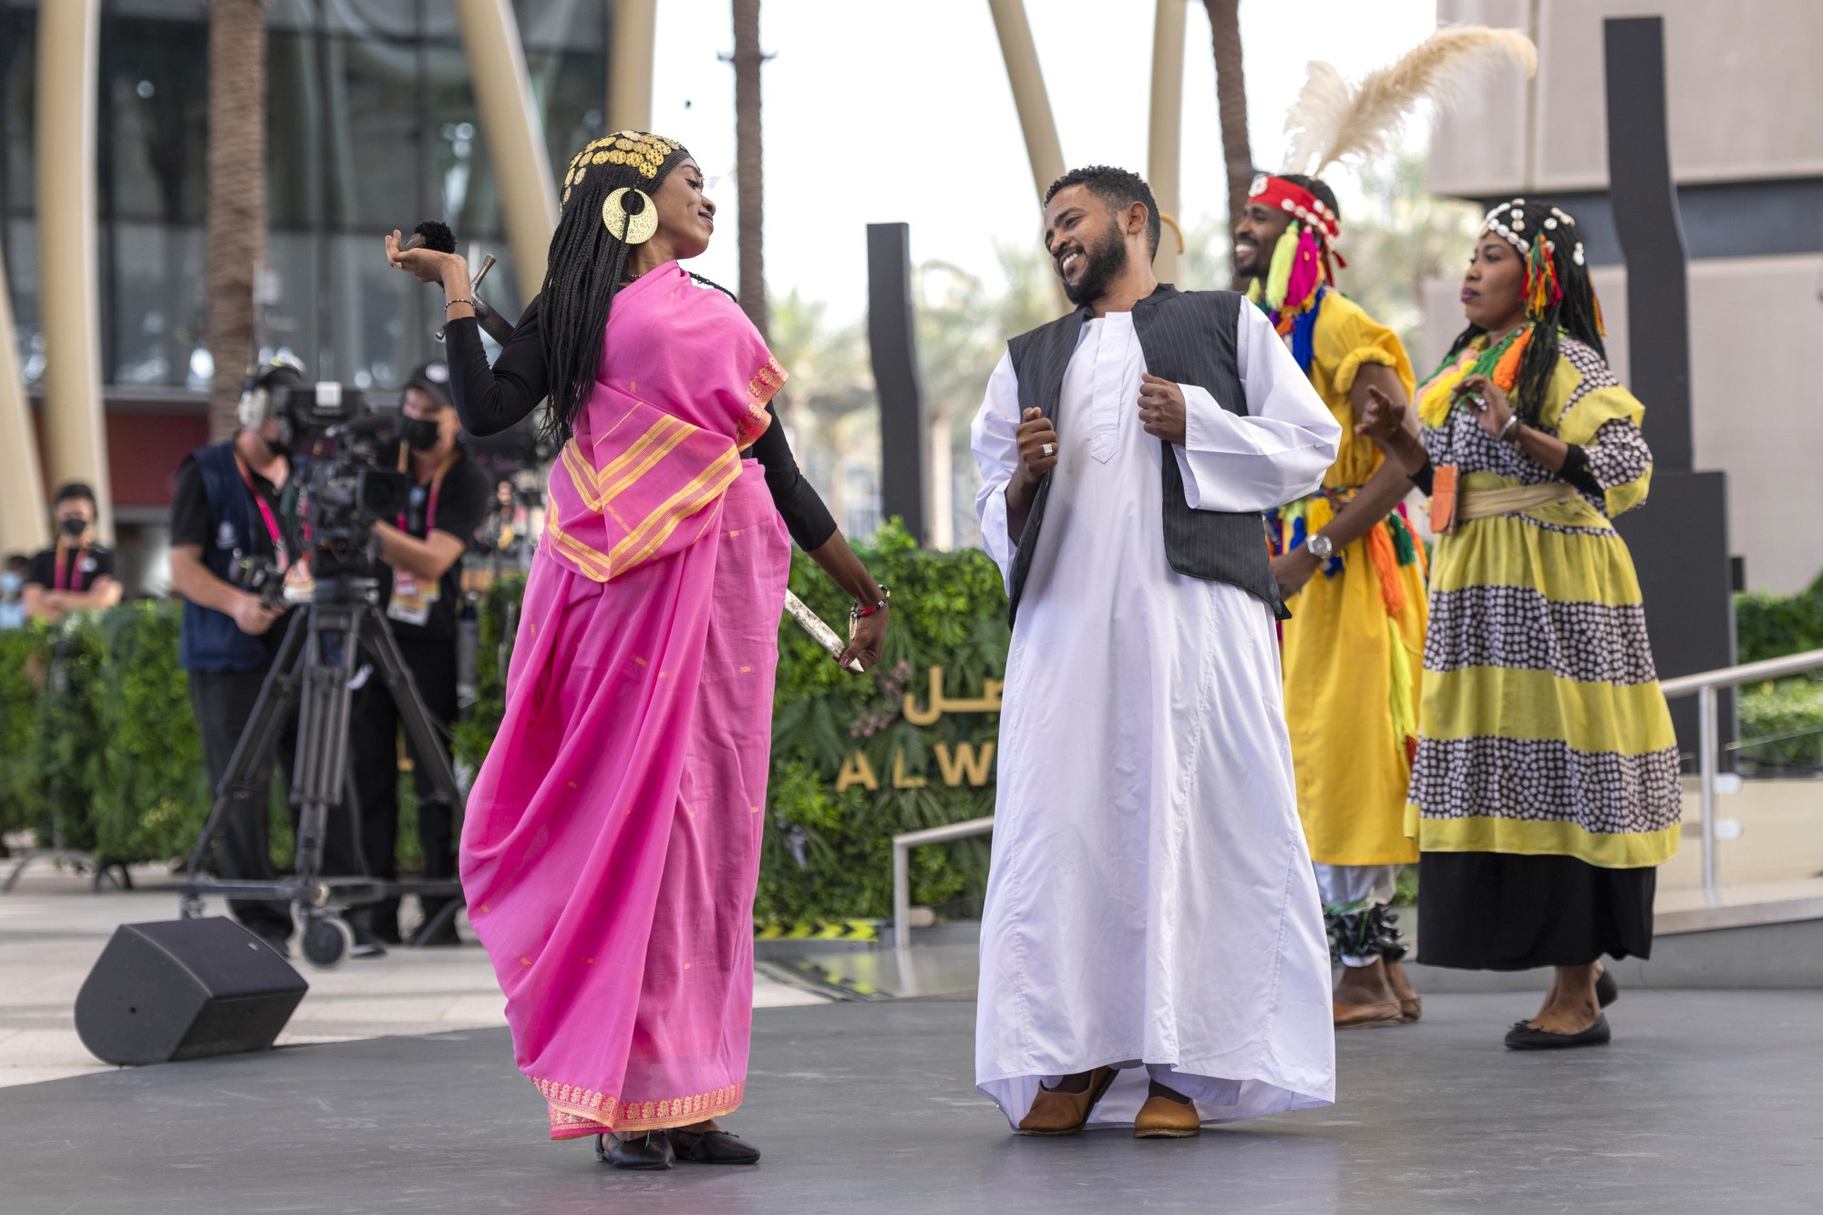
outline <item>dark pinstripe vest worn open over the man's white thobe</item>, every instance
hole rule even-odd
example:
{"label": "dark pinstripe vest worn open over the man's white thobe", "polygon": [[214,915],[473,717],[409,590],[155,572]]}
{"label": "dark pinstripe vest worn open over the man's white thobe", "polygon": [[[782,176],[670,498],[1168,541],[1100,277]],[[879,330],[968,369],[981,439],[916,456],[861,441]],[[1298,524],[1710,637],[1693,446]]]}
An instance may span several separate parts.
{"label": "dark pinstripe vest worn open over the man's white thobe", "polygon": [[[1179,292],[1161,283],[1156,292],[1134,308],[1134,332],[1145,354],[1145,369],[1172,383],[1194,383],[1207,389],[1216,401],[1234,414],[1247,412],[1247,394],[1234,363],[1234,332],[1240,310],[1247,301],[1234,292]],[[1019,378],[1019,412],[1041,409],[1057,421],[1057,398],[1063,392],[1063,372],[1076,354],[1076,341],[1087,306],[1050,325],[1039,325],[1006,343],[1014,374]],[[1138,400],[1134,401],[1138,409]],[[1163,443],[1159,472],[1165,482],[1163,527],[1165,558],[1170,567],[1205,582],[1229,582],[1265,600],[1285,618],[1278,582],[1265,549],[1260,514],[1225,514],[1220,511],[1192,511],[1183,498],[1183,474],[1170,443]],[[1045,502],[1050,498],[1050,474],[1037,485],[1032,513],[1019,535],[1019,553],[1014,556],[1010,578],[1008,620],[1019,617],[1019,595],[1037,549],[1037,533],[1045,524]]]}

